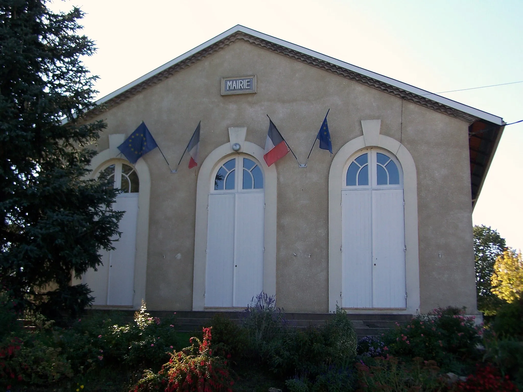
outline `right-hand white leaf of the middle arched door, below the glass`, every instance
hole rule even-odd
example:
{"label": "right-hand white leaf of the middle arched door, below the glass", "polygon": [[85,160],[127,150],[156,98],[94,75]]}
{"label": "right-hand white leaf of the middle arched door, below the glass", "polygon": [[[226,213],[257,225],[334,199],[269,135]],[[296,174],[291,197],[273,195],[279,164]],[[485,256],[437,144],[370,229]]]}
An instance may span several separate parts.
{"label": "right-hand white leaf of the middle arched door, below the glass", "polygon": [[236,194],[233,306],[247,306],[263,290],[264,216],[264,193]]}

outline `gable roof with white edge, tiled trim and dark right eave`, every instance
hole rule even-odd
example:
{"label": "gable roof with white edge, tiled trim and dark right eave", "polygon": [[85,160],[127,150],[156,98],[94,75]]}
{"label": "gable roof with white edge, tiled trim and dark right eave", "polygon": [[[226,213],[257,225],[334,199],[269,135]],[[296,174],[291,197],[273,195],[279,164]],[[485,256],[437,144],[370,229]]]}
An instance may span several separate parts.
{"label": "gable roof with white edge, tiled trim and dark right eave", "polygon": [[[259,48],[290,57],[327,72],[376,88],[384,93],[468,122],[470,124],[469,147],[471,153],[472,201],[473,204],[475,203],[505,125],[501,117],[241,25],[236,25],[224,31],[126,86],[113,91],[113,93],[99,99],[96,103],[97,105],[104,104],[105,108],[116,106],[120,102],[139,94],[142,90],[158,84],[176,72],[204,59],[204,57],[228,47],[237,40],[244,40]],[[95,114],[96,112],[97,109],[95,108],[92,113]]]}

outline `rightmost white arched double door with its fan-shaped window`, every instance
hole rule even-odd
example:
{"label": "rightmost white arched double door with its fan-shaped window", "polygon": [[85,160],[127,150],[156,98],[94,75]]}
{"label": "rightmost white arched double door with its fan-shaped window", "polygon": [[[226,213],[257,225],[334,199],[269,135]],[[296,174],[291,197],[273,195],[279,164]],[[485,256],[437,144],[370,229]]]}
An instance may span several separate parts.
{"label": "rightmost white arched double door with its fan-shaped window", "polygon": [[354,154],[342,183],[342,306],[406,307],[403,172],[388,151]]}

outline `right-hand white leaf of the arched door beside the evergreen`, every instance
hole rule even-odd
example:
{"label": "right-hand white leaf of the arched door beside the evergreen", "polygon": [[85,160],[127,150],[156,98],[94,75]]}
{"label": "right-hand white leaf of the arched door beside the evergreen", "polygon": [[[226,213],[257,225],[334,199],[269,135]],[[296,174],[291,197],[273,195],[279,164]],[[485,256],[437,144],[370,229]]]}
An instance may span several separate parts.
{"label": "right-hand white leaf of the arched door beside the evergreen", "polygon": [[132,305],[134,296],[134,257],[136,253],[136,227],[138,222],[138,194],[117,197],[113,209],[126,211],[119,230],[120,239],[110,252],[107,305]]}

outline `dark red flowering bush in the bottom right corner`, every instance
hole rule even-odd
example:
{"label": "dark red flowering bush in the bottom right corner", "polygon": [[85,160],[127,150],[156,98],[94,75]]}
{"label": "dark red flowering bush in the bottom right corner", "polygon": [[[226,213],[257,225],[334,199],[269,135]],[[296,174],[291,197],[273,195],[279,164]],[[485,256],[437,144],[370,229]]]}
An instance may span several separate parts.
{"label": "dark red flowering bush in the bottom right corner", "polygon": [[467,377],[467,381],[458,382],[454,387],[456,391],[474,392],[499,392],[517,391],[518,388],[509,381],[508,376],[502,377],[491,365],[477,366],[475,375]]}

